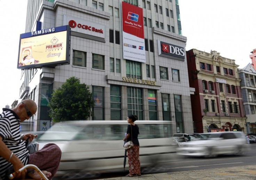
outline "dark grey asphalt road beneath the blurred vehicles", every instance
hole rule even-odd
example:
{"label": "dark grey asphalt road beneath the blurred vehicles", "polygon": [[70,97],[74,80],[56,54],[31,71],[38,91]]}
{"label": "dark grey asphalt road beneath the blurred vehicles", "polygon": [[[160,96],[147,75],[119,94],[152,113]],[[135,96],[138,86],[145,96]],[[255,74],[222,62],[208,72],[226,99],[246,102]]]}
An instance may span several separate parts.
{"label": "dark grey asphalt road beneath the blurred vehicles", "polygon": [[[152,174],[161,172],[179,172],[179,171],[192,171],[192,170],[202,170],[202,169],[212,169],[221,167],[233,167],[233,166],[245,166],[245,165],[255,165],[256,162],[256,144],[250,144],[245,155],[235,156],[235,155],[222,155],[212,158],[204,157],[178,157],[173,159],[173,162],[168,164],[161,164],[154,167],[147,167],[142,169],[142,174]],[[128,173],[128,167],[126,172],[115,172],[115,173],[105,173],[105,174],[88,174],[87,178],[73,177],[70,180],[93,180],[93,179],[104,179],[111,177],[121,177]],[[92,177],[90,177],[90,175]],[[54,180],[57,180],[54,178]]]}

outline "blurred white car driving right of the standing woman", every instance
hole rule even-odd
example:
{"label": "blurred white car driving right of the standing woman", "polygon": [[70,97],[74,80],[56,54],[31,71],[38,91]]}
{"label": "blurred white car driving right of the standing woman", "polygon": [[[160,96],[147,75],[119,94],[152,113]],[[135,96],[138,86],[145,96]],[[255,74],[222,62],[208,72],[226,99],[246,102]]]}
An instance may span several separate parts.
{"label": "blurred white car driving right of the standing woman", "polygon": [[242,155],[247,150],[243,132],[212,132],[206,140],[185,142],[177,148],[178,155],[217,156],[220,154]]}

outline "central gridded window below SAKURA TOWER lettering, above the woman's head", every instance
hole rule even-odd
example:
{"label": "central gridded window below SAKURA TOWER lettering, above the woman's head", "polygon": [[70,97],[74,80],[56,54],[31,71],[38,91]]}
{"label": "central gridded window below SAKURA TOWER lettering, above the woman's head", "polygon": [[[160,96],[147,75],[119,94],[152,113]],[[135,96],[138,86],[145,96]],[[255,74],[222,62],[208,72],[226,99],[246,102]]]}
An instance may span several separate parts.
{"label": "central gridded window below SAKURA TOWER lettering, above the woman's head", "polygon": [[138,120],[143,120],[142,89],[127,87],[127,114],[136,114]]}

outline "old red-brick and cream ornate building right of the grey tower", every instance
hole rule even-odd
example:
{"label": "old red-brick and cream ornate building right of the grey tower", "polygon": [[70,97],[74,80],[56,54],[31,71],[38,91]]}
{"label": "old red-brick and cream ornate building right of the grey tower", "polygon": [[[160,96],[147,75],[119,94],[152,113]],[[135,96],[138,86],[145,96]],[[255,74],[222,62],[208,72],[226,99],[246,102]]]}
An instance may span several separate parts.
{"label": "old red-brick and cream ornate building right of the grey tower", "polygon": [[235,60],[197,49],[187,51],[194,128],[197,132],[243,131],[245,111]]}

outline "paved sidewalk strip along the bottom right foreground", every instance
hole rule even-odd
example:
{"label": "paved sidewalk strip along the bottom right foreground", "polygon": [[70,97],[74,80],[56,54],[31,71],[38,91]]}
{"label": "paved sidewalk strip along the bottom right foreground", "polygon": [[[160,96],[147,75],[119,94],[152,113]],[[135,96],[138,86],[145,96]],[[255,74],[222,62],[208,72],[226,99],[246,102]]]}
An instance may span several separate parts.
{"label": "paved sidewalk strip along the bottom right foreground", "polygon": [[256,165],[216,168],[208,170],[142,174],[134,177],[117,177],[101,180],[256,180]]}

